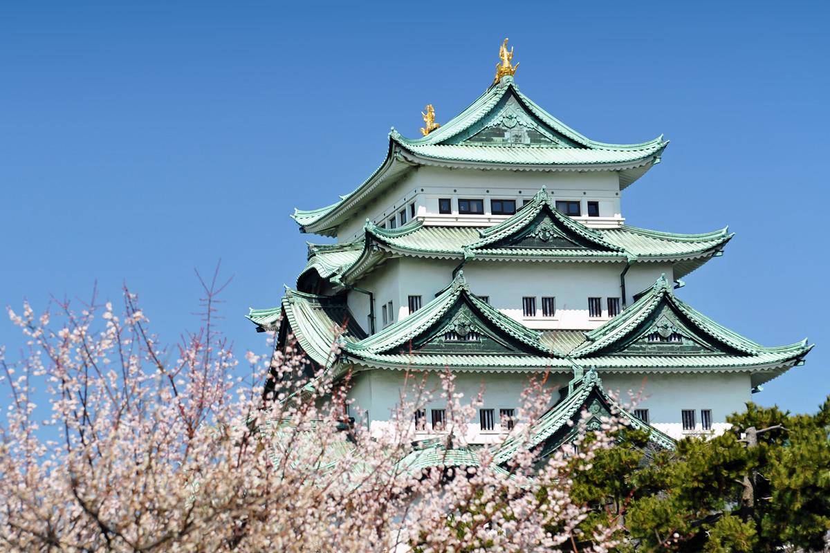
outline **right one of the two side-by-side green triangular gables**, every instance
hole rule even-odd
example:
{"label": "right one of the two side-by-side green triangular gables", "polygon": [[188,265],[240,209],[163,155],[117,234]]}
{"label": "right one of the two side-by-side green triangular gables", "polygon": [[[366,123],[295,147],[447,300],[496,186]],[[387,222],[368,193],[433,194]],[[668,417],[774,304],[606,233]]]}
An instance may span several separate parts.
{"label": "right one of the two side-by-side green triangular gables", "polygon": [[585,337],[573,357],[751,356],[760,347],[682,303],[665,274],[630,308]]}

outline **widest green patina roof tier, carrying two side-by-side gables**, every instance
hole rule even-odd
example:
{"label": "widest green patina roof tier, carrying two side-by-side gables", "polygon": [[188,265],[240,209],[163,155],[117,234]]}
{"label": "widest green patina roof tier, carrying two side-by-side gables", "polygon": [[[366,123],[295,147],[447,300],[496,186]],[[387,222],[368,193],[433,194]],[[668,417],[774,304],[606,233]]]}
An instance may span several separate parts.
{"label": "widest green patina roof tier, carrying two side-by-side gables", "polygon": [[[471,293],[459,272],[432,302],[366,337],[342,297],[289,290],[282,303],[300,346],[321,365],[334,364],[335,329],[339,361],[364,368],[457,371],[570,371],[574,361],[598,371],[749,372],[753,386],[797,364],[813,347],[807,341],[763,347],[722,327],[674,297],[671,283],[657,281],[630,308],[596,330],[535,332]],[[273,325],[280,309],[251,310],[249,318]],[[473,342],[447,341],[447,332],[478,332]],[[662,332],[662,334],[661,334]],[[651,335],[665,339],[650,339]]]}

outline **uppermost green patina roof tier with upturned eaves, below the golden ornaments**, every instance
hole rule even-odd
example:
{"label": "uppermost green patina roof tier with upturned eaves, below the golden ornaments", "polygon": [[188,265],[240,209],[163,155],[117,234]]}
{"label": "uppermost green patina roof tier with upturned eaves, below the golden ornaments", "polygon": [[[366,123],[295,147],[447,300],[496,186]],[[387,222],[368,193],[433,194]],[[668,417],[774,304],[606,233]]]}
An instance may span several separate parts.
{"label": "uppermost green patina roof tier with upturned eaves, below the golden ornaments", "polygon": [[292,217],[301,230],[334,235],[345,211],[376,196],[381,182],[393,182],[411,167],[425,164],[530,171],[615,170],[623,189],[659,162],[667,144],[662,136],[639,144],[589,140],[521,94],[513,78],[505,76],[461,114],[423,138],[404,138],[393,130],[386,159],[366,181],[330,206],[296,210]]}

